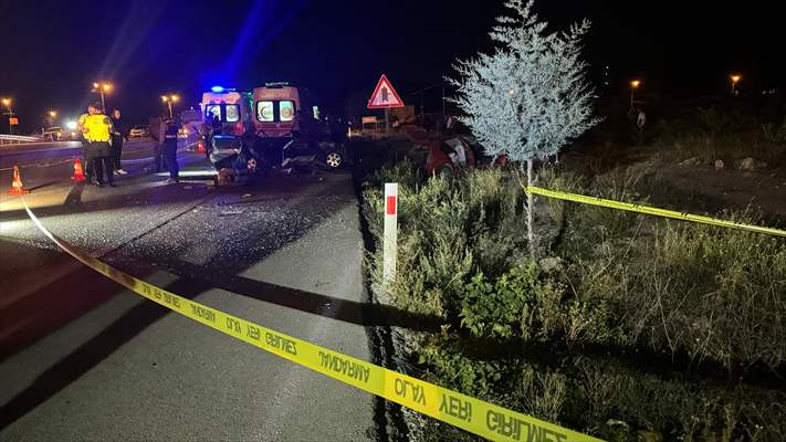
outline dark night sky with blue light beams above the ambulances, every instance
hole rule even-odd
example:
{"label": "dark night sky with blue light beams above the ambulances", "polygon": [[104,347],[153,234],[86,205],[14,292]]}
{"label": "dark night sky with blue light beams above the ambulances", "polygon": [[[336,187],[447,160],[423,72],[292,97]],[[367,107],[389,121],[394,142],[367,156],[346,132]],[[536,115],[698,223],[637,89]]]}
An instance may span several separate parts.
{"label": "dark night sky with blue light beams above the ambulances", "polygon": [[[535,9],[555,27],[593,20],[586,59],[594,74],[609,66],[607,93],[626,92],[637,76],[661,94],[722,94],[731,72],[742,73],[744,92],[784,92],[776,3],[539,0]],[[95,101],[96,80],[115,84],[107,107],[132,122],[161,113],[165,92],[179,93],[185,107],[214,84],[270,81],[308,86],[324,108],[344,114],[381,73],[405,102],[419,99],[408,93],[439,83],[457,57],[490,49],[503,10],[496,0],[0,0],[0,96],[13,97],[22,131],[40,127],[50,108],[75,116]]]}

